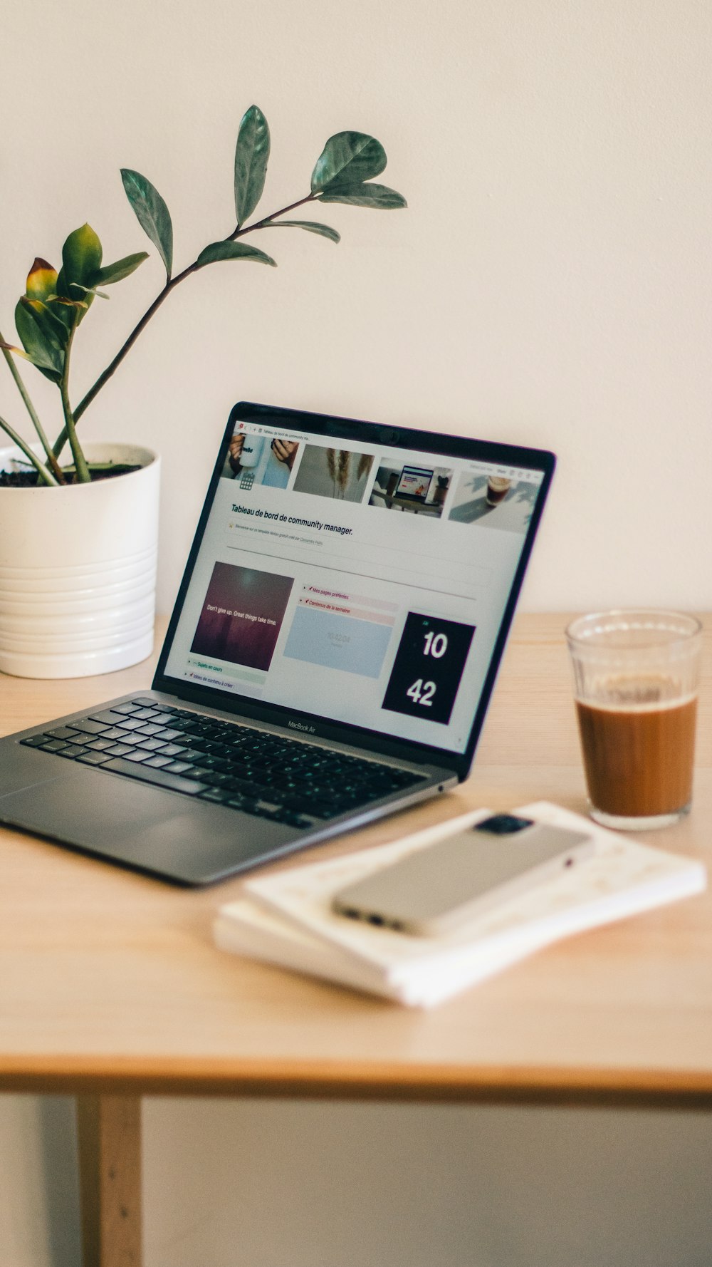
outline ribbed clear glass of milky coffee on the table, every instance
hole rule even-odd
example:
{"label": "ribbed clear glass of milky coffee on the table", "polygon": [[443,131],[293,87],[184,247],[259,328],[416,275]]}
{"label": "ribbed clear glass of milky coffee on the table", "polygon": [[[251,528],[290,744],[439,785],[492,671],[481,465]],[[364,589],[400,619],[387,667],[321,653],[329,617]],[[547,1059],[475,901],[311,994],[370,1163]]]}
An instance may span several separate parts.
{"label": "ribbed clear glass of milky coffee on the table", "polygon": [[566,630],[592,818],[665,827],[692,801],[702,626],[693,616],[614,611]]}

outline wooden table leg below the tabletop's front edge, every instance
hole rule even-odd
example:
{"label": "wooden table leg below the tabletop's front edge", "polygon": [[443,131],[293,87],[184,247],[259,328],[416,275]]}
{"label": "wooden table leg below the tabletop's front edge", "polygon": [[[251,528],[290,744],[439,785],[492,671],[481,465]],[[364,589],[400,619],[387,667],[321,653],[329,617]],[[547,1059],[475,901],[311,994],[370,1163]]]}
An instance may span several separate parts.
{"label": "wooden table leg below the tabletop's front edge", "polygon": [[141,1098],[79,1096],[84,1267],[141,1267]]}

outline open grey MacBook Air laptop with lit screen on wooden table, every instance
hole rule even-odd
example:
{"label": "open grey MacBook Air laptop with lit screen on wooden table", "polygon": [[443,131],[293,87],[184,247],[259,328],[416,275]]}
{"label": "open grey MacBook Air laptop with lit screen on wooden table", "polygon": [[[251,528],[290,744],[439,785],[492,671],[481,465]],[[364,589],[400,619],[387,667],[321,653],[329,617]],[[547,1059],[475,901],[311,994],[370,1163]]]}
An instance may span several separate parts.
{"label": "open grey MacBook Air laptop with lit screen on wooden table", "polygon": [[[554,465],[234,405],[151,689],[0,740],[0,821],[198,886],[442,796],[473,764]],[[432,514],[370,504],[394,469],[441,473]],[[493,476],[505,502],[466,522]]]}

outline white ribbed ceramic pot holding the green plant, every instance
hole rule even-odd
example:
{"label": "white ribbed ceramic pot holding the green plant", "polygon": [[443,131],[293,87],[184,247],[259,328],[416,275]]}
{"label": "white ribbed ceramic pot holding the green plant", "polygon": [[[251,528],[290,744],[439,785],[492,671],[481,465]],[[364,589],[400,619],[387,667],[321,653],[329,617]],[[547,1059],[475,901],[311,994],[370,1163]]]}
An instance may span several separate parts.
{"label": "white ribbed ceramic pot holding the green plant", "polygon": [[[20,456],[0,450],[0,469]],[[161,461],[94,445],[90,461],[141,465],[70,488],[0,488],[0,669],[85,678],[153,649]]]}

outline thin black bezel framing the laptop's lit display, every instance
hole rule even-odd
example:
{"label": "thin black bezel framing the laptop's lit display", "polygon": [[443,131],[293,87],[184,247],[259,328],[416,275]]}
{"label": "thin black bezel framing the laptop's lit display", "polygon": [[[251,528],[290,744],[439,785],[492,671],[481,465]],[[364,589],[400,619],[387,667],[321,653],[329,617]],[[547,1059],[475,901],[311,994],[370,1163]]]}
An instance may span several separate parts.
{"label": "thin black bezel framing the laptop's lit display", "polygon": [[[361,441],[366,445],[383,445],[389,449],[403,449],[409,454],[422,451],[423,454],[433,456],[460,457],[541,471],[542,483],[540,493],[527,528],[527,535],[519,555],[509,597],[502,616],[499,634],[494,644],[489,669],[480,692],[467,745],[464,753],[454,753],[450,749],[421,744],[410,739],[395,739],[391,735],[384,735],[380,731],[369,730],[362,726],[353,726],[348,722],[319,717],[315,713],[299,712],[285,704],[265,703],[264,701],[257,701],[245,696],[236,696],[232,693],[228,696],[217,687],[196,685],[195,683],[188,684],[184,679],[170,677],[166,673],[166,663],[171,651],[172,640],[177,630],[208,518],[213,508],[218,481],[224,468],[227,446],[234,432],[236,423],[238,422],[253,423],[256,426],[283,427],[285,430],[294,428],[310,431],[317,436]],[[233,405],[229,413],[220,441],[193,545],[190,547],[174,611],[168,622],[168,628],[166,631],[166,637],[163,640],[163,646],[158,658],[158,664],[156,666],[152,689],[176,696],[177,698],[185,699],[191,704],[219,710],[227,716],[233,715],[248,717],[256,722],[267,722],[283,727],[291,721],[293,723],[296,723],[298,729],[305,729],[307,732],[315,739],[336,740],[345,744],[352,744],[357,748],[364,748],[381,755],[402,758],[408,761],[416,761],[426,765],[443,767],[447,770],[452,770],[452,773],[462,780],[469,774],[474,760],[476,744],[486,716],[486,710],[507,642],[507,636],[512,625],[512,618],[514,616],[527,564],[532,552],[533,541],[541,521],[544,506],[547,499],[555,465],[555,455],[549,450],[530,449],[519,445],[505,445],[499,443],[498,441],[471,440],[465,436],[443,435],[437,431],[431,432],[407,427],[381,426],[374,422],[364,422],[357,418],[342,418],[336,414],[309,413],[280,405],[266,405],[250,400],[239,400],[236,405]]]}

